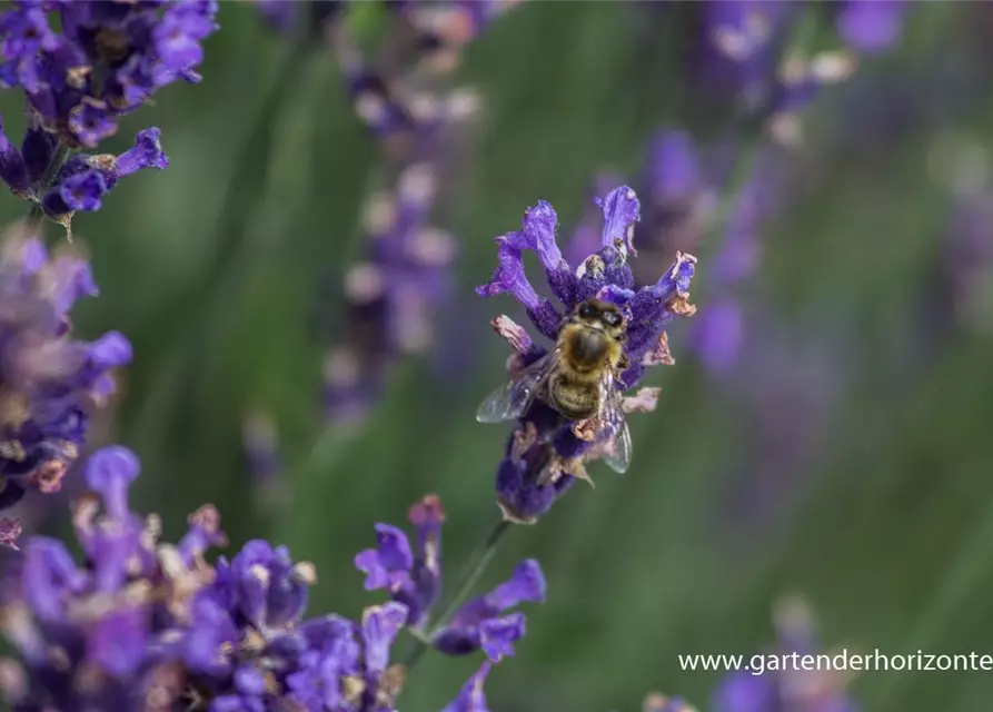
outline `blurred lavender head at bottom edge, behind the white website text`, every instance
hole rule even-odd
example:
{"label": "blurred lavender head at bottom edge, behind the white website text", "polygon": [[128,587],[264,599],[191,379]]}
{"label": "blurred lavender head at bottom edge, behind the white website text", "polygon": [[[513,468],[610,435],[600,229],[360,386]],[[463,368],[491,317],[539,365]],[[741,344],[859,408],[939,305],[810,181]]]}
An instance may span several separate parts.
{"label": "blurred lavender head at bottom edge, behind the white website text", "polygon": [[[815,655],[818,642],[813,616],[800,600],[781,603],[776,615],[778,640],[774,653]],[[717,689],[714,712],[858,712],[858,705],[844,691],[843,675],[830,670],[767,670],[728,674]]]}

